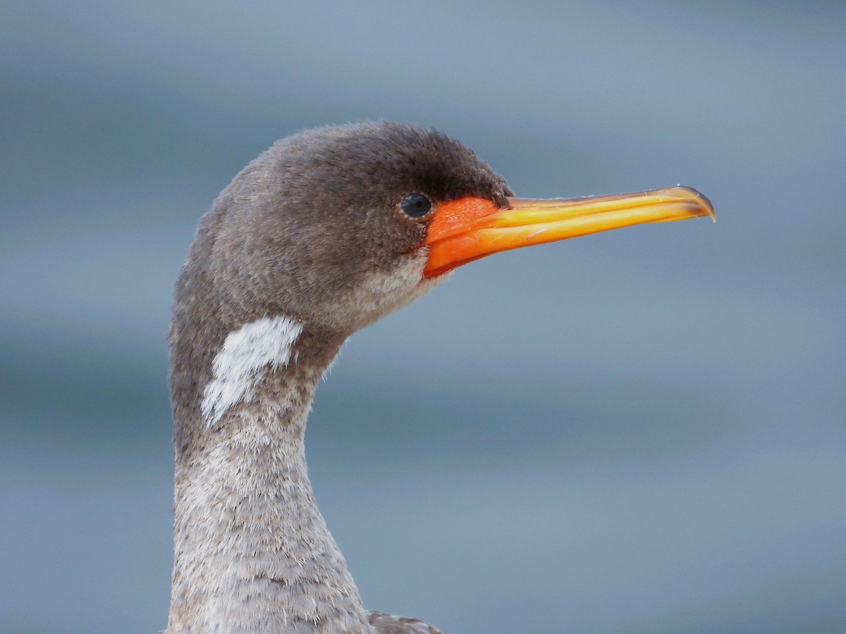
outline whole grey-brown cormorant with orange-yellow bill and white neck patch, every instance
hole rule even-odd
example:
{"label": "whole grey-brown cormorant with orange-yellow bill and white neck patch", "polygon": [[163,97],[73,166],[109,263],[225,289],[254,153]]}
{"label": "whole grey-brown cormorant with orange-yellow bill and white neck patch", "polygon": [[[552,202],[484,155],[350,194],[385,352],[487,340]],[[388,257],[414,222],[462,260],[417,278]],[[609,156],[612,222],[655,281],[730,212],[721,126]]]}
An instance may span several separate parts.
{"label": "whole grey-brown cormorant with orange-yellow bill and white neck patch", "polygon": [[[663,216],[636,221],[711,213],[691,192],[649,199]],[[394,123],[288,137],[234,178],[201,220],[173,309],[168,632],[437,634],[364,609],[309,482],[310,402],[354,331],[464,262],[569,237],[565,204],[514,199],[464,145]]]}

